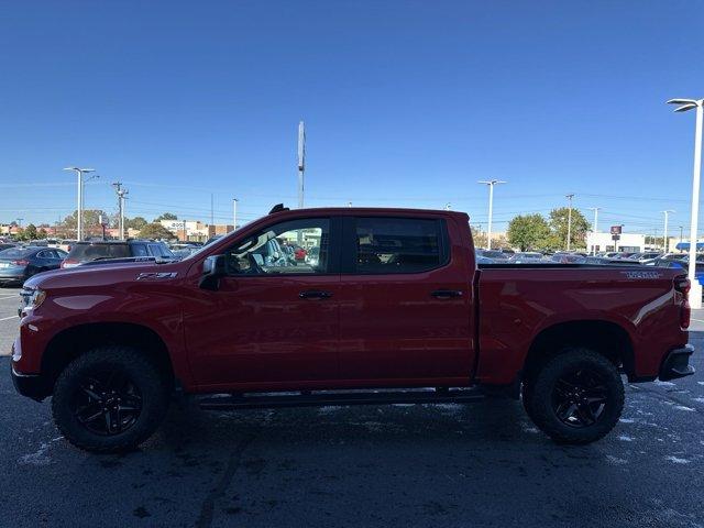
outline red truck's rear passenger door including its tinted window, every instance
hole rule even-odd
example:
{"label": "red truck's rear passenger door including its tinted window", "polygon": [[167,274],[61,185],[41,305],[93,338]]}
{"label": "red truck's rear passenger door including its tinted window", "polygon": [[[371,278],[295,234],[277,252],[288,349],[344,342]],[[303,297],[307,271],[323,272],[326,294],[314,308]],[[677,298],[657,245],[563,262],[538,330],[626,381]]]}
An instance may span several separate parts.
{"label": "red truck's rear passenger door including its tinted window", "polygon": [[433,216],[345,218],[343,377],[375,385],[469,380],[473,286],[466,246],[452,243],[461,237],[454,222]]}

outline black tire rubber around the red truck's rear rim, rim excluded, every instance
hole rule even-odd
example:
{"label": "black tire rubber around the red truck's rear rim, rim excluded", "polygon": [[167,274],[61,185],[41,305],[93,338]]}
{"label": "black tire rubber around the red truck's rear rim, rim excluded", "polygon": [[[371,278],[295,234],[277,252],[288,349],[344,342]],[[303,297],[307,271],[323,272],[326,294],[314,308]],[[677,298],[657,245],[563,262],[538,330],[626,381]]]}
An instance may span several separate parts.
{"label": "black tire rubber around the red truck's rear rim, rim excluded", "polygon": [[[605,404],[591,425],[563,422],[554,408],[554,391],[559,380],[587,370],[598,376]],[[534,424],[559,443],[584,444],[600,440],[618,422],[624,408],[624,384],[618,369],[607,358],[585,348],[569,348],[547,361],[536,373],[524,406]]]}

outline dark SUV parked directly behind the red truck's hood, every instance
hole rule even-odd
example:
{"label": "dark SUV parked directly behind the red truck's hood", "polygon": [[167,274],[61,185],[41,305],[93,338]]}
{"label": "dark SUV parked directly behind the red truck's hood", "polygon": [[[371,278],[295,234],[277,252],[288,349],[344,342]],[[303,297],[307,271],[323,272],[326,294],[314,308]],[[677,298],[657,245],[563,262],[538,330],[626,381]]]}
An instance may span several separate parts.
{"label": "dark SUV parked directly behind the red truck's hood", "polygon": [[174,258],[174,254],[164,242],[151,240],[98,240],[76,242],[62,267],[75,267],[91,261],[112,258],[133,258],[138,256],[158,260]]}

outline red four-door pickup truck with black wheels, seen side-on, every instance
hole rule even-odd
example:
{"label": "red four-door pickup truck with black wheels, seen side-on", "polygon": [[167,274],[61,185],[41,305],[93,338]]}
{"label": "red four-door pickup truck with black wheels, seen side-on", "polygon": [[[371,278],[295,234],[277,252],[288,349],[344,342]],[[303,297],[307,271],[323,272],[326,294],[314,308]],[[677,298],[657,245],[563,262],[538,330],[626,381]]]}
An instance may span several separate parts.
{"label": "red four-door pickup truck with black wheels, seen side-on", "polygon": [[688,292],[668,268],[477,267],[461,212],[277,206],[180,262],[32,277],[12,376],[100,452],[144,441],[178,394],[244,409],[505,393],[585,443],[618,421],[622,374],[694,372]]}

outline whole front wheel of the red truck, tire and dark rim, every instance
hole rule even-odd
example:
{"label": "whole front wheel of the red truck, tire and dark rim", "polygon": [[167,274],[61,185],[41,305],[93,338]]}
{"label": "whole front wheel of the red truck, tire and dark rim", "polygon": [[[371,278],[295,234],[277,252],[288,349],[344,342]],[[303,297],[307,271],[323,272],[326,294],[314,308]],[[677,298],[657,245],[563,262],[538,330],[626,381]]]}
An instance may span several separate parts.
{"label": "whole front wheel of the red truck, tire and dark rim", "polygon": [[94,452],[136,448],[163,420],[168,386],[144,354],[100,346],[78,356],[54,386],[54,422],[74,446]]}

